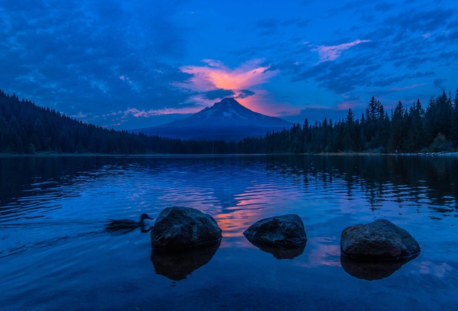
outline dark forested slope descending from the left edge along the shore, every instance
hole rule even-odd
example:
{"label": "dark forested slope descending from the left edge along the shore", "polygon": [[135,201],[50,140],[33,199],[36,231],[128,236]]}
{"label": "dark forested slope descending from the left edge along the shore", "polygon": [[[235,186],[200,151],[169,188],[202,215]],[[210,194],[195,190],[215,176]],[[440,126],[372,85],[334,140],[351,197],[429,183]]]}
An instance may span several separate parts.
{"label": "dark forested slope descending from the left edge along the shore", "polygon": [[[232,151],[229,150],[232,146]],[[197,142],[114,131],[19,100],[0,90],[0,153],[232,153],[235,143]]]}

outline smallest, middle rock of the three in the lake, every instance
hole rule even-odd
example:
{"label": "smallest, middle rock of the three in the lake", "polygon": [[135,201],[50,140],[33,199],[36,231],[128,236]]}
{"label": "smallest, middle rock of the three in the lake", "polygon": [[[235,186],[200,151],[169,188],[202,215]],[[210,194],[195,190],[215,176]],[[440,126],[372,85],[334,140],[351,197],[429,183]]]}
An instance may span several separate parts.
{"label": "smallest, middle rock of the three in the lake", "polygon": [[256,221],[244,231],[248,240],[297,247],[307,242],[304,222],[298,215],[289,214]]}

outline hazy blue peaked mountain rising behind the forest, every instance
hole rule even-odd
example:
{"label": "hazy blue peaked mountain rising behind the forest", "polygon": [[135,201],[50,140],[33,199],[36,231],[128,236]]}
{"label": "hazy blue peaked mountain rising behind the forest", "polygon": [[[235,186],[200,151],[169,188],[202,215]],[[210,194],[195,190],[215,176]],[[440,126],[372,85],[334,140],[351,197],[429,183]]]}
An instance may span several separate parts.
{"label": "hazy blue peaked mountain rising behind the forest", "polygon": [[191,117],[160,126],[141,128],[136,133],[181,138],[183,140],[239,141],[245,137],[264,136],[268,131],[282,131],[294,124],[269,117],[241,106],[233,98],[214,103]]}

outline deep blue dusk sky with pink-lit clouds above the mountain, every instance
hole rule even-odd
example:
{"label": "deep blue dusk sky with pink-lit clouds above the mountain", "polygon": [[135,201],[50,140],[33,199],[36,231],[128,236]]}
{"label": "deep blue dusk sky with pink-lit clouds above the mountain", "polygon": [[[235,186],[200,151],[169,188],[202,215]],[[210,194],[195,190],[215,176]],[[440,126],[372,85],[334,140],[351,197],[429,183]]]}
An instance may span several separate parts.
{"label": "deep blue dusk sky with pink-lit clouds above the mountain", "polygon": [[226,97],[303,124],[458,88],[458,1],[0,0],[0,90],[145,128]]}

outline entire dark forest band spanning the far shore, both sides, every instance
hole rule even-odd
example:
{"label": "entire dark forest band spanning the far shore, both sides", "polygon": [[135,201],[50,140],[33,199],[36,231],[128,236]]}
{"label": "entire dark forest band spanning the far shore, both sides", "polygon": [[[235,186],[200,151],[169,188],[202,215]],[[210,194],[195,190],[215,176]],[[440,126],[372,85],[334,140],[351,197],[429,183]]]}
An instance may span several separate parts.
{"label": "entire dark forest band spanning the far shore, both sides", "polygon": [[333,122],[294,124],[292,128],[247,137],[240,142],[180,140],[114,131],[85,124],[56,110],[36,106],[0,90],[0,153],[252,154],[252,153],[418,153],[458,147],[458,90],[432,96],[423,108],[385,111],[372,96],[358,119],[351,109]]}

